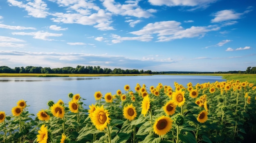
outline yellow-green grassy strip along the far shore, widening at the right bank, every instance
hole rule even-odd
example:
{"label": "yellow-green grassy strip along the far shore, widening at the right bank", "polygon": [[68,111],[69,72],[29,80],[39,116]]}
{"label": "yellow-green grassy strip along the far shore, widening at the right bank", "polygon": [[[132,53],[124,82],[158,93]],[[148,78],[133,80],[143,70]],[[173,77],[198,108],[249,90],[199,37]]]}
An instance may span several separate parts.
{"label": "yellow-green grassy strip along the far shore, widening at the right bank", "polygon": [[222,76],[228,81],[239,80],[256,84],[255,74],[46,74],[46,73],[0,73],[0,77],[98,77],[98,76],[149,76],[149,75],[206,75]]}

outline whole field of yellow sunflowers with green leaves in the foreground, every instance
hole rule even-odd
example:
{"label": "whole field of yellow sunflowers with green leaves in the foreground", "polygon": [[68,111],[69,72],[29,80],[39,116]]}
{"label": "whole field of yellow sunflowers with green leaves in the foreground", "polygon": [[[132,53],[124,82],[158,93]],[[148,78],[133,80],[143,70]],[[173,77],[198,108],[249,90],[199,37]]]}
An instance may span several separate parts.
{"label": "whole field of yellow sunflowers with green leaves in the foreground", "polygon": [[79,94],[29,113],[20,100],[0,111],[0,143],[243,143],[256,135],[256,86],[222,81],[192,85],[125,85],[96,91],[87,106]]}

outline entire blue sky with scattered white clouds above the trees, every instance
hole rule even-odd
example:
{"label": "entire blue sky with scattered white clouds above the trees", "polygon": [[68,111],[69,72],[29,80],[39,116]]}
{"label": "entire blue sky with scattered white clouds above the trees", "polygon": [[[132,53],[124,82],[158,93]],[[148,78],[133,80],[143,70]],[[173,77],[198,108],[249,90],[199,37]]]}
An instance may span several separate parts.
{"label": "entire blue sky with scattered white clouds above the trees", "polygon": [[0,0],[0,66],[256,66],[255,0]]}

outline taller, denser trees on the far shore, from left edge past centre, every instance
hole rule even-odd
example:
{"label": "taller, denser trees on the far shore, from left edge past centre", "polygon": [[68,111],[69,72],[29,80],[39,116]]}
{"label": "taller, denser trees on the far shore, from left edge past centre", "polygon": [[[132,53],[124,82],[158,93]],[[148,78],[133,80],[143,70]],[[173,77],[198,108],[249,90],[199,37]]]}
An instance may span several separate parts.
{"label": "taller, denser trees on the far shore, from left edge past centre", "polygon": [[121,68],[101,68],[100,66],[76,66],[76,68],[67,66],[63,68],[49,68],[41,66],[26,66],[9,68],[8,66],[0,66],[0,73],[46,73],[46,74],[157,74],[158,72],[152,72],[151,70],[123,70]]}

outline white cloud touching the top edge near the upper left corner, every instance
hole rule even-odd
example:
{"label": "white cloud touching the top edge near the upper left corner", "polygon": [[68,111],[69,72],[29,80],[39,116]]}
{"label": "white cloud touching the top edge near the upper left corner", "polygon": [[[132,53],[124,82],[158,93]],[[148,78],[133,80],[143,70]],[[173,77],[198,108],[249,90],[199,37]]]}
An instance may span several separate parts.
{"label": "white cloud touching the top edge near the upper left corner", "polygon": [[27,4],[17,0],[7,0],[7,2],[13,6],[24,8],[28,12],[28,15],[31,15],[35,18],[45,18],[49,14],[47,12],[48,9],[46,8],[47,4],[42,0],[35,0],[33,2],[27,1]]}

